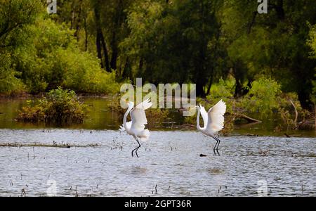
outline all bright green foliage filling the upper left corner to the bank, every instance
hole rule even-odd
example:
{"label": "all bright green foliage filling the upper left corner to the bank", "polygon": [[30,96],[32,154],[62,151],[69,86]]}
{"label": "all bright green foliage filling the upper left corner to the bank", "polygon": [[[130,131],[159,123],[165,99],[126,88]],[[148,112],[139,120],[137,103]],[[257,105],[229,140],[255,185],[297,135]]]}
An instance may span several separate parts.
{"label": "all bright green foliage filling the upper left corner to the bank", "polygon": [[55,23],[39,1],[1,1],[0,93],[39,93],[56,86],[89,94],[119,91],[116,72],[79,49],[74,30]]}

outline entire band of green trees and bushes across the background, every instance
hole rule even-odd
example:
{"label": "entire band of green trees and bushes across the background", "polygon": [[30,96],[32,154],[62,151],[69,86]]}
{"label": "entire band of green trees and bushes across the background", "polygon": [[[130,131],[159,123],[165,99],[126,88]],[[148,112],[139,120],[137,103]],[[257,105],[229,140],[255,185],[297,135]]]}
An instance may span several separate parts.
{"label": "entire band of green trees and bushes across the background", "polygon": [[47,15],[46,1],[2,0],[0,93],[116,94],[117,81],[142,77],[195,83],[206,108],[223,98],[228,113],[296,124],[294,107],[303,120],[316,102],[316,1],[269,4],[60,0]]}

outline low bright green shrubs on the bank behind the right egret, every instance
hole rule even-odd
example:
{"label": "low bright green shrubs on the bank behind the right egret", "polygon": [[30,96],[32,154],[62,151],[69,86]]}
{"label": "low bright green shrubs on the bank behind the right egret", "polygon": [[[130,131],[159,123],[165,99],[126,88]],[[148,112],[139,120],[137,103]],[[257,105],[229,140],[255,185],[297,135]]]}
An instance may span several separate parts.
{"label": "low bright green shrubs on the bank behind the right egret", "polygon": [[[282,92],[280,84],[274,79],[259,77],[251,85],[248,94],[234,98],[235,82],[230,79],[225,81],[220,79],[217,84],[213,84],[209,96],[198,98],[197,104],[201,103],[208,110],[220,99],[225,101],[227,109],[225,127],[221,132],[223,134],[232,132],[235,120],[244,118],[243,115],[256,116],[262,121],[279,117],[285,127],[280,125],[278,129],[297,129],[300,127],[299,122],[305,122],[310,118],[310,112],[303,109],[298,101],[298,94]],[[192,112],[195,112],[195,108],[192,108]],[[200,121],[202,124],[202,118]],[[185,117],[185,122],[196,124],[196,115]]]}

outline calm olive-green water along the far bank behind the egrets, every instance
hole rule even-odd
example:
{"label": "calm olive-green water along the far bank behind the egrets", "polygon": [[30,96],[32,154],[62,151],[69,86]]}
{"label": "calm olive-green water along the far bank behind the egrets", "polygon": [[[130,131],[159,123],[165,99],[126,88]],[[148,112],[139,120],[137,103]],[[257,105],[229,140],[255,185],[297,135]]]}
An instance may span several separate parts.
{"label": "calm olive-green water along the far bank behind the egrets", "polygon": [[[118,113],[112,112],[109,103],[113,99],[110,97],[82,97],[81,101],[90,108],[88,118],[83,124],[64,125],[67,129],[118,129],[122,123],[123,117]],[[23,98],[0,98],[0,129],[49,129],[51,125],[43,123],[33,124],[15,121],[18,110],[26,105],[26,99]],[[154,130],[173,130],[184,123],[185,118],[177,110],[169,110],[169,120],[162,124],[152,124],[150,129]],[[254,116],[256,117],[256,114]],[[241,135],[260,135],[260,136],[284,136],[284,132],[276,131],[275,128],[284,124],[277,117],[256,117],[262,120],[259,124],[237,124],[232,134]],[[53,126],[55,127],[55,126]],[[186,129],[185,129],[186,130]],[[192,130],[192,129],[191,129]],[[287,131],[290,136],[310,136],[316,137],[316,131],[311,130],[290,130]]]}

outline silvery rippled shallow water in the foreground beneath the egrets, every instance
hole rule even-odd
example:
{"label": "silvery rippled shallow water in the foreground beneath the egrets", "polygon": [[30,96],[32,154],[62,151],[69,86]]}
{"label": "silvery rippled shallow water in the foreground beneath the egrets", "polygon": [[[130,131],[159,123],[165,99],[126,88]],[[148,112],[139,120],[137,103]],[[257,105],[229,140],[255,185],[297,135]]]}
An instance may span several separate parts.
{"label": "silvery rippled shallow water in the foreground beneath the egrets", "polygon": [[261,180],[268,196],[316,196],[315,138],[220,139],[216,156],[198,132],[151,132],[132,158],[136,141],[117,131],[0,129],[0,144],[83,146],[0,147],[0,196],[46,196],[54,183],[57,196],[258,196]]}

